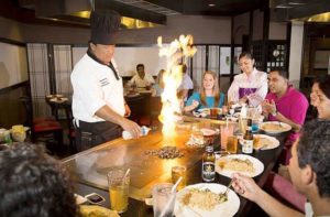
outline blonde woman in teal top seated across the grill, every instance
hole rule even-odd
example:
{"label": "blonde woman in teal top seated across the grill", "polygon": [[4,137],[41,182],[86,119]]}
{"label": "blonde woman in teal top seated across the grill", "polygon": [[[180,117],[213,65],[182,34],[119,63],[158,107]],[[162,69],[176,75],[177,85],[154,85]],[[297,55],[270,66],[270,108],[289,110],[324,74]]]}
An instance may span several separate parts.
{"label": "blonde woman in teal top seated across the grill", "polygon": [[218,75],[212,70],[202,74],[202,84],[199,93],[194,93],[187,100],[184,110],[186,112],[201,108],[221,108],[224,102],[224,94],[220,93]]}

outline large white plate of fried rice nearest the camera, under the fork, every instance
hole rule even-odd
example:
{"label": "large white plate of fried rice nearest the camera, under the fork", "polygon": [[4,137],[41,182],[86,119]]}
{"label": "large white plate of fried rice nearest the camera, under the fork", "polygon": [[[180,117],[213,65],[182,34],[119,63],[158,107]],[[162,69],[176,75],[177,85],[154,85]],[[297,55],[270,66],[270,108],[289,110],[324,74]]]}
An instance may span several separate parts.
{"label": "large white plate of fried rice nearest the camera, under the fork", "polygon": [[215,183],[186,186],[176,195],[174,214],[186,216],[234,216],[240,208],[240,198],[232,189]]}

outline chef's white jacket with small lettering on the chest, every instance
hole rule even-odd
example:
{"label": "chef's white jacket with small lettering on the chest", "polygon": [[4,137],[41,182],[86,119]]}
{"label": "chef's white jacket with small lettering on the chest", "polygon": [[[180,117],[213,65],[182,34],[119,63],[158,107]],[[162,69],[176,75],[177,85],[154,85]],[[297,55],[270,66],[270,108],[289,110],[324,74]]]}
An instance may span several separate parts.
{"label": "chef's white jacket with small lettering on the chest", "polygon": [[[114,64],[113,66],[116,67]],[[96,116],[105,105],[120,116],[124,116],[122,79],[120,76],[117,79],[109,66],[85,54],[75,65],[70,79],[74,88],[73,115],[76,120],[105,121]]]}

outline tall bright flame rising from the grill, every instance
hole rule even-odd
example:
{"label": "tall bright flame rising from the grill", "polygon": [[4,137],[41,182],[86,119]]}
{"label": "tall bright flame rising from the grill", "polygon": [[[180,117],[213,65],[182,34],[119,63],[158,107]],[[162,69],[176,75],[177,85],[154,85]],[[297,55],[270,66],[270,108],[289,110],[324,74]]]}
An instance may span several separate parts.
{"label": "tall bright flame rising from the grill", "polygon": [[193,46],[191,35],[180,35],[168,46],[163,46],[162,36],[158,37],[157,42],[160,56],[167,58],[166,72],[163,74],[164,93],[162,94],[163,108],[160,120],[163,122],[164,138],[173,138],[176,134],[176,113],[182,112],[182,99],[177,97],[177,89],[183,79],[183,64],[186,64],[187,57],[193,56],[197,48]]}

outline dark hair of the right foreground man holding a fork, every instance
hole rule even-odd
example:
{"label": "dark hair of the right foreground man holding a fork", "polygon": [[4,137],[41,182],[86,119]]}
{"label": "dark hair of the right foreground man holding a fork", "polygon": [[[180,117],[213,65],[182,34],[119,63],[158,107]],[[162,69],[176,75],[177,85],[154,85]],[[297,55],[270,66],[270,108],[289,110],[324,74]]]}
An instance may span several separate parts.
{"label": "dark hair of the right foreground man holding a fork", "polygon": [[317,174],[321,197],[330,196],[330,121],[312,120],[301,131],[297,145],[299,167],[310,165]]}

